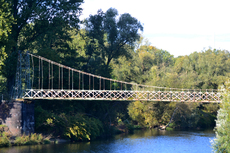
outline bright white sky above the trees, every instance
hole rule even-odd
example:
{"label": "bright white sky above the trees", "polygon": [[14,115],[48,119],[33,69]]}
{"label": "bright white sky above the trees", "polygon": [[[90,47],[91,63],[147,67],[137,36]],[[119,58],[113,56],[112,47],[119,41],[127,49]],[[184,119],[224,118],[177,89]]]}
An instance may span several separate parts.
{"label": "bright white sky above the trees", "polygon": [[174,57],[209,48],[230,51],[229,0],[84,0],[81,19],[116,8],[139,20],[144,38]]}

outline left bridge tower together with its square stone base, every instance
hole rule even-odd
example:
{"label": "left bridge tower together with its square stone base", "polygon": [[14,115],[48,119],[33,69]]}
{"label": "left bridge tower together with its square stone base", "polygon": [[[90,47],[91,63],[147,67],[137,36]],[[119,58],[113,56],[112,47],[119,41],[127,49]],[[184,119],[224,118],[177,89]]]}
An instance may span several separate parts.
{"label": "left bridge tower together with its square stone base", "polygon": [[34,132],[34,103],[23,100],[26,89],[31,89],[30,55],[18,52],[15,86],[12,89],[11,101],[0,103],[1,124],[9,128],[13,136]]}

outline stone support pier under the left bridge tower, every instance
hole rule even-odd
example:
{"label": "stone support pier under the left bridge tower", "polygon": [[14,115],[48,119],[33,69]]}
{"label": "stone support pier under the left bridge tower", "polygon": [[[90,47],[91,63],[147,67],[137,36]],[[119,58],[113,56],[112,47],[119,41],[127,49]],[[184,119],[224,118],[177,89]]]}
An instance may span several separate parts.
{"label": "stone support pier under the left bridge tower", "polygon": [[34,133],[34,103],[27,101],[2,102],[0,122],[12,136]]}

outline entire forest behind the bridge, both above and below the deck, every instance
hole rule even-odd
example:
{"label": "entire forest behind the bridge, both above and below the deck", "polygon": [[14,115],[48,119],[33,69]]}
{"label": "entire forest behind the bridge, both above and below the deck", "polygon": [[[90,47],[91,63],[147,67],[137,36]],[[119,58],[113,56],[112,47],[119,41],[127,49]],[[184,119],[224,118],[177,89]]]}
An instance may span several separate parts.
{"label": "entire forest behind the bridge, both above and below the deck", "polygon": [[[79,20],[82,0],[0,0],[0,94],[9,99],[17,54],[29,51],[104,77],[145,85],[218,89],[230,76],[230,52],[207,49],[174,57],[152,46],[138,19],[115,8]],[[51,9],[52,8],[52,9]],[[188,46],[189,47],[189,46]],[[134,127],[215,126],[218,104],[160,102],[35,102],[36,132],[73,141]],[[176,110],[176,112],[175,112]],[[174,113],[175,112],[175,113]]]}

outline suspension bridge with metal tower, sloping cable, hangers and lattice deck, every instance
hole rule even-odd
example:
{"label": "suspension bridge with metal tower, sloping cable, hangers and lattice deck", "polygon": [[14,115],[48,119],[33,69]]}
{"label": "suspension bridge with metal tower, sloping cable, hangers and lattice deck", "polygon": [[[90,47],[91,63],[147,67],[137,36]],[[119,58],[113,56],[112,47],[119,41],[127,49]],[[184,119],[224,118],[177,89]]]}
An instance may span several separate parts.
{"label": "suspension bridge with metal tower, sloping cable, hangers and lattice deck", "polygon": [[216,89],[179,89],[124,82],[83,72],[42,56],[18,54],[14,99],[219,103]]}

